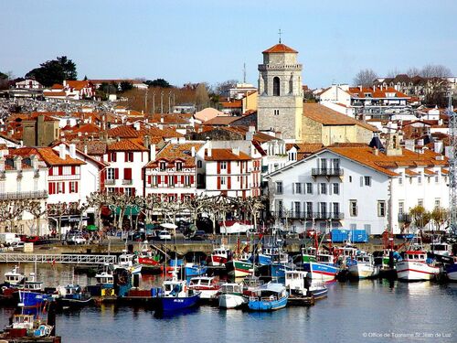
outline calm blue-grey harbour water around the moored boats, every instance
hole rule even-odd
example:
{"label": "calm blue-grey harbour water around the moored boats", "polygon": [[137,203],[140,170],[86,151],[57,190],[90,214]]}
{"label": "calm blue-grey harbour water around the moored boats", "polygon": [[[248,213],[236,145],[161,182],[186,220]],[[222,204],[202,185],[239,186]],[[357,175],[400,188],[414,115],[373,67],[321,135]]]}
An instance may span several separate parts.
{"label": "calm blue-grey harbour water around the moored boats", "polygon": [[[0,273],[11,269],[1,265]],[[33,272],[31,264],[21,266]],[[95,284],[71,276],[70,266],[38,265],[46,286]],[[160,276],[143,275],[144,288]],[[328,297],[311,307],[273,313],[219,310],[203,305],[173,316],[146,307],[91,305],[57,315],[62,342],[456,342],[457,284],[389,283],[364,280],[329,285]],[[0,326],[14,308],[0,307]]]}

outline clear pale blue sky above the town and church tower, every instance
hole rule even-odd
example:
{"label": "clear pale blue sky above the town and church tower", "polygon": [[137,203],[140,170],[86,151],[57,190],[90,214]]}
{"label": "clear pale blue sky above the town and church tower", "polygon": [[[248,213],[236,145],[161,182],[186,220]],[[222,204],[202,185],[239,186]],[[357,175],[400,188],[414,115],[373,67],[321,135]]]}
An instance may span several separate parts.
{"label": "clear pale blue sky above the town and church tower", "polygon": [[442,64],[457,76],[455,0],[1,1],[0,71],[16,77],[67,56],[80,79],[243,80],[261,51],[299,51],[311,88]]}

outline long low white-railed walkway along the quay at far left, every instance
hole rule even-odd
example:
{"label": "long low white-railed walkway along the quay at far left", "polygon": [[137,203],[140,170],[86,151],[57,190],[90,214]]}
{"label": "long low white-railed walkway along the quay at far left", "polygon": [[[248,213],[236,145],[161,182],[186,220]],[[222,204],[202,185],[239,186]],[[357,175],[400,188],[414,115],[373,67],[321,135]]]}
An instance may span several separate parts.
{"label": "long low white-railed walkway along the quay at far left", "polygon": [[105,264],[116,262],[115,255],[0,253],[0,263]]}

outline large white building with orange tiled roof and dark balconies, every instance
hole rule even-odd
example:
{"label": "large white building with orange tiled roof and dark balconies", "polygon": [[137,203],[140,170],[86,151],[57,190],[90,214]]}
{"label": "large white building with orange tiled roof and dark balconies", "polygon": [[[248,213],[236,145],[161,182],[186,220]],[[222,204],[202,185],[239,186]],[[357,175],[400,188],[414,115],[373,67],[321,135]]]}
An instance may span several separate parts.
{"label": "large white building with orange tiled roof and dark balconies", "polygon": [[443,155],[418,154],[398,142],[389,137],[385,151],[332,145],[272,172],[267,176],[271,215],[298,231],[413,230],[409,209],[448,207],[449,164]]}

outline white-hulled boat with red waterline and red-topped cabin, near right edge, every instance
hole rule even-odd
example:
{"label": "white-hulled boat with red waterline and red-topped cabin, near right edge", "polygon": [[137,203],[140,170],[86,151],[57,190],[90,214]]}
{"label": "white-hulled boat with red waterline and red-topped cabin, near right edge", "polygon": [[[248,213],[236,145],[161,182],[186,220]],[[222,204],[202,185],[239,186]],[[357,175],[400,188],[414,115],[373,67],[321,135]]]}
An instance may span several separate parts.
{"label": "white-hulled boat with red waterline and red-topped cabin, near right edge", "polygon": [[397,277],[404,281],[429,281],[442,272],[441,264],[427,259],[422,250],[407,251],[403,261],[396,264]]}

